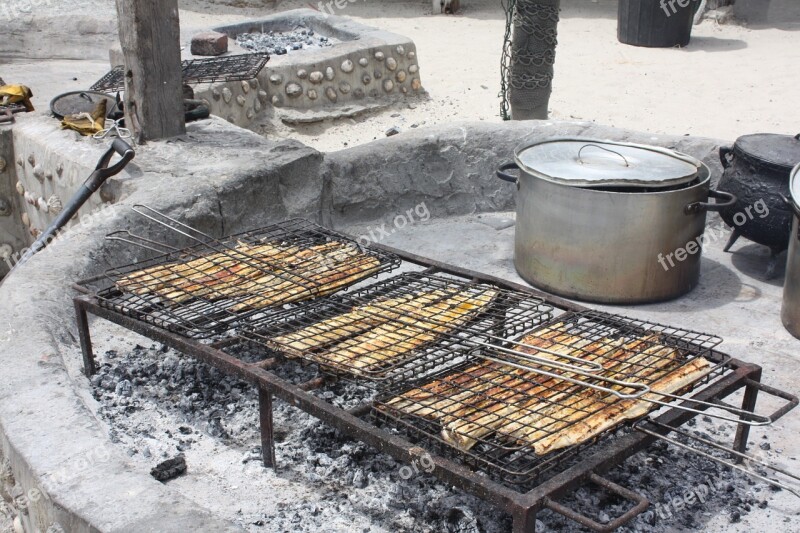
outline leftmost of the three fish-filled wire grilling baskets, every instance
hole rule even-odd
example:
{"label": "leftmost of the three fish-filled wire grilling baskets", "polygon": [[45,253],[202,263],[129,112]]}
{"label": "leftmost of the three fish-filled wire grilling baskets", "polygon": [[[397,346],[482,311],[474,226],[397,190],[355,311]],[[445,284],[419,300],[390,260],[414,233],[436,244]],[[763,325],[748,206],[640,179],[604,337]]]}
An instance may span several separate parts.
{"label": "leftmost of the three fish-filled wire grilling baskets", "polygon": [[392,254],[295,219],[108,270],[97,297],[132,318],[209,338],[248,317],[333,294],[399,263]]}

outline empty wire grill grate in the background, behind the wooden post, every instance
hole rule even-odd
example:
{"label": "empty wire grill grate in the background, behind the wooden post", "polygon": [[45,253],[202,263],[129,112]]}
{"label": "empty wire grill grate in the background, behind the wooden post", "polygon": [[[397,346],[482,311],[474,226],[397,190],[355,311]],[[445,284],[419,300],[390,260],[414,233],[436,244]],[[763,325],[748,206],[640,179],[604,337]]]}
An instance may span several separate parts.
{"label": "empty wire grill grate in the background, behind the wooden post", "polygon": [[[239,54],[224,57],[191,59],[181,63],[183,83],[252,80],[269,61],[267,54]],[[118,65],[97,80],[91,89],[115,92],[125,89],[125,67]]]}

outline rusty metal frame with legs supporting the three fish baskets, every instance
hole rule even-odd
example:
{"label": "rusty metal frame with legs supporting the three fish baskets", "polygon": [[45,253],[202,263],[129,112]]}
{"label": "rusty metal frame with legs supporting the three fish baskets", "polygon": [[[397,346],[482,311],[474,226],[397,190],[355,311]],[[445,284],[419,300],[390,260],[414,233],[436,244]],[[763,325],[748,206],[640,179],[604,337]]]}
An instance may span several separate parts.
{"label": "rusty metal frame with legs supporting the three fish baskets", "polygon": [[[503,288],[520,290],[538,296],[550,305],[564,311],[582,311],[585,307],[574,304],[568,300],[554,297],[528,286],[508,282],[500,278],[480,274],[471,270],[455,267],[438,261],[426,259],[414,254],[387,246],[377,246],[400,256],[403,260],[422,266],[428,273],[447,273],[471,279],[476,282],[495,283]],[[84,371],[91,375],[96,371],[95,358],[92,350],[91,334],[89,331],[89,314],[103,318],[126,329],[147,336],[157,342],[162,342],[186,355],[212,365],[219,370],[252,383],[259,391],[259,411],[261,424],[262,456],[264,465],[276,467],[275,445],[273,440],[272,401],[279,398],[291,405],[302,409],[322,422],[339,430],[351,438],[360,440],[373,446],[383,453],[387,453],[399,461],[418,461],[420,454],[427,453],[418,445],[409,440],[391,434],[362,419],[370,409],[370,405],[362,405],[349,411],[340,409],[325,400],[311,394],[309,391],[321,385],[321,382],[295,385],[279,378],[269,371],[273,360],[259,363],[245,363],[223,351],[229,342],[222,341],[216,344],[203,344],[152,326],[145,322],[127,317],[116,311],[103,307],[91,294],[75,297],[78,333],[83,352]],[[799,402],[798,398],[785,392],[767,387],[760,383],[761,367],[748,364],[736,359],[730,359],[727,366],[732,370],[692,396],[701,401],[719,402],[734,392],[744,389],[742,408],[749,411],[755,409],[759,392],[765,392],[786,400],[786,404],[771,415],[777,420]],[[688,402],[686,402],[688,404]],[[669,409],[656,420],[662,424],[678,427],[696,415],[680,410]],[[739,425],[734,440],[734,449],[744,452],[749,436],[749,426]],[[577,464],[547,479],[528,492],[514,490],[507,486],[492,481],[486,476],[477,474],[469,468],[462,466],[450,459],[440,456],[430,456],[434,465],[432,473],[446,483],[473,494],[497,508],[509,513],[513,519],[513,533],[534,533],[536,514],[543,509],[550,509],[567,518],[588,527],[593,531],[610,532],[622,526],[642,513],[649,502],[647,498],[629,489],[620,487],[602,477],[615,466],[624,462],[656,440],[653,436],[632,431],[613,442],[594,446],[587,450],[585,457]],[[608,523],[598,523],[595,520],[581,515],[558,502],[559,498],[569,494],[581,485],[594,483],[604,489],[633,502],[633,506]]]}

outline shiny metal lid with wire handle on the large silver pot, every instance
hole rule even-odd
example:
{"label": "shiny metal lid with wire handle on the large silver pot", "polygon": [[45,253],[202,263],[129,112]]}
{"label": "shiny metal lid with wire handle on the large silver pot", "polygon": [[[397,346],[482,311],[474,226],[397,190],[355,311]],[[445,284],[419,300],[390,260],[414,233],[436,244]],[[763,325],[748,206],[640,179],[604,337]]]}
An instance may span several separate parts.
{"label": "shiny metal lid with wire handle on the large silver pot", "polygon": [[529,174],[572,187],[674,187],[694,180],[701,166],[664,148],[580,138],[518,148],[517,160]]}

